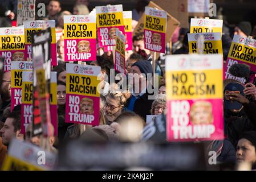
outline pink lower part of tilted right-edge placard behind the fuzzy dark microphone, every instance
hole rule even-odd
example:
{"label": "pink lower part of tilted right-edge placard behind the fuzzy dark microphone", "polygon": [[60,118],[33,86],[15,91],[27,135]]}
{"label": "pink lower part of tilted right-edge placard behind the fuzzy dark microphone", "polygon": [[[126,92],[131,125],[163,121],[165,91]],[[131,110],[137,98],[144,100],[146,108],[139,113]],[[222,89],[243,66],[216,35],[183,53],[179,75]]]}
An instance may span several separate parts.
{"label": "pink lower part of tilted right-edge placard behind the fuzzy dark microphone", "polygon": [[[237,63],[236,63],[235,61],[237,61]],[[226,73],[228,73],[229,67],[230,67],[231,65],[233,65],[233,64],[247,64],[247,65],[249,65],[249,66],[251,67],[251,71],[256,72],[256,65],[250,64],[250,63],[246,63],[246,62],[243,62],[243,61],[239,61],[239,60],[236,60],[236,59],[233,59],[233,58],[230,58],[230,57],[227,57],[226,64],[224,65],[223,80],[229,78],[229,75],[230,75],[230,74],[226,74]],[[237,78],[238,78],[238,77],[235,77],[235,78],[232,77],[232,79],[234,79],[234,80],[237,80]],[[250,78],[251,78],[251,82],[253,82],[254,76],[251,76]],[[239,81],[239,80],[238,80],[238,81]],[[243,83],[243,84],[244,84],[244,83]]]}

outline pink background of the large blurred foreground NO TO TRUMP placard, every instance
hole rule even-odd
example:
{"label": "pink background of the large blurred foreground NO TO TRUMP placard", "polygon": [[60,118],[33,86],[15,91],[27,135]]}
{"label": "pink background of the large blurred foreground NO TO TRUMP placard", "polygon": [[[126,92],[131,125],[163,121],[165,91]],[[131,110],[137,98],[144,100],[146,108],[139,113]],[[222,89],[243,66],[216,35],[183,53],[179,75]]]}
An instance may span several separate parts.
{"label": "pink background of the large blurred foreground NO TO TRUMP placard", "polygon": [[[181,100],[177,100],[181,101]],[[208,101],[212,104],[213,113],[213,124],[215,126],[215,132],[210,136],[210,138],[198,138],[198,139],[174,139],[173,130],[171,126],[173,125],[173,119],[170,117],[172,108],[170,108],[172,101],[167,101],[167,120],[166,120],[166,137],[169,142],[190,142],[195,140],[222,140],[224,139],[224,115],[223,115],[223,102],[222,99],[212,99],[212,100],[188,100],[190,109],[191,105],[196,101]],[[190,111],[189,111],[190,112]],[[189,116],[189,113],[188,113]],[[191,125],[190,121],[188,126]]]}

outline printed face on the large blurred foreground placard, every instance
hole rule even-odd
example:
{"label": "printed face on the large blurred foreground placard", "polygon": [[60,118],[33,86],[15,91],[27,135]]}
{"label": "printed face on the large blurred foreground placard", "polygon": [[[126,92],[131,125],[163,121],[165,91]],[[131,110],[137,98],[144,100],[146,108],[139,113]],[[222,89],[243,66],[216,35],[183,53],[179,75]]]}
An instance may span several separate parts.
{"label": "printed face on the large blurred foreground placard", "polygon": [[195,107],[191,122],[193,125],[207,125],[212,123],[212,112],[210,108],[206,106]]}

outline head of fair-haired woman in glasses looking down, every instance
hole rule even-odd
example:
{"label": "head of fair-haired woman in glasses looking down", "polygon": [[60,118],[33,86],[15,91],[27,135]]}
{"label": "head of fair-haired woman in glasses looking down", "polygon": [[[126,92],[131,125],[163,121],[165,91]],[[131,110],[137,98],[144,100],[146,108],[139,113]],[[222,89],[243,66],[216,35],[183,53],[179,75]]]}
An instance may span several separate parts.
{"label": "head of fair-haired woman in glasses looking down", "polygon": [[122,113],[127,99],[130,96],[131,94],[122,92],[108,93],[107,96],[105,96],[106,102],[104,105],[104,114],[108,120],[108,125],[114,122],[116,118]]}

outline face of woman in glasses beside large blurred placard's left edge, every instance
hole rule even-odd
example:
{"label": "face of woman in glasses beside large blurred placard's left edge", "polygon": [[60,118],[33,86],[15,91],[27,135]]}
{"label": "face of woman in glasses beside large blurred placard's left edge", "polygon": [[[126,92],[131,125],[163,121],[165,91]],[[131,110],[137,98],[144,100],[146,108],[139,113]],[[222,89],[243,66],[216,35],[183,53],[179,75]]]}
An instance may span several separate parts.
{"label": "face of woman in glasses beside large blurred placard's left edge", "polygon": [[151,114],[152,115],[159,115],[164,113],[164,110],[166,109],[166,100],[165,100],[165,94],[159,95],[159,97],[156,98],[155,101],[152,103],[151,107]]}

